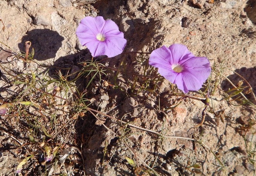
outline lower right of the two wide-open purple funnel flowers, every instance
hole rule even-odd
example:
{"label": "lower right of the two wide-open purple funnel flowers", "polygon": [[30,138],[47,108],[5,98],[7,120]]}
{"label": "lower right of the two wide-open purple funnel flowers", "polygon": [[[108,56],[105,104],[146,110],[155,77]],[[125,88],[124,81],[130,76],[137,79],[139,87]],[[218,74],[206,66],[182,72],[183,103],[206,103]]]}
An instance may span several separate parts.
{"label": "lower right of the two wide-open purple funnel flowers", "polygon": [[149,64],[158,68],[160,75],[184,93],[199,90],[211,73],[210,62],[206,57],[195,57],[182,44],[162,46],[154,50]]}

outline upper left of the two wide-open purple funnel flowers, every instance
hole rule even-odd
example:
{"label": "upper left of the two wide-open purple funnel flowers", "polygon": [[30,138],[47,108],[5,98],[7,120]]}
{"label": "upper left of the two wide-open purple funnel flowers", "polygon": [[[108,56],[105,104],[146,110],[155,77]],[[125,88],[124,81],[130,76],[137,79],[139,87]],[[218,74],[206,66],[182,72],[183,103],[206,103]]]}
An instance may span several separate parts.
{"label": "upper left of the two wide-open purple funnel flowers", "polygon": [[83,18],[76,34],[80,43],[87,46],[93,57],[114,57],[121,54],[126,45],[123,32],[119,31],[115,22],[104,20],[101,16]]}

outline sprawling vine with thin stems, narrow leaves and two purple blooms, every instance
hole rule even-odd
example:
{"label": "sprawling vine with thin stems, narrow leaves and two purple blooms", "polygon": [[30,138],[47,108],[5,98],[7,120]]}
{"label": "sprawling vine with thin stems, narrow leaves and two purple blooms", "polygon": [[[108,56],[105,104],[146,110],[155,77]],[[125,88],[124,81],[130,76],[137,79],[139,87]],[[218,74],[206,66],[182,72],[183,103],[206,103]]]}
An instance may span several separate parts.
{"label": "sprawling vine with thin stems, narrow leaves and two purple blooms", "polygon": [[[9,68],[7,63],[0,63],[6,84],[15,87],[14,92],[0,99],[0,114],[10,122],[15,119],[17,123],[23,125],[26,131],[23,135],[27,141],[24,143],[1,130],[20,146],[20,151],[17,152],[23,154],[21,162],[17,164],[17,173],[29,171],[48,175],[50,174],[49,168],[54,167],[54,164],[63,164],[63,161],[69,161],[74,172],[85,174],[82,152],[78,147],[75,147],[78,141],[72,137],[71,133],[73,133],[78,119],[87,114],[87,116],[94,116],[99,124],[118,138],[116,146],[112,149],[108,148],[108,141],[105,140],[104,155],[101,165],[98,167],[107,168],[118,146],[122,145],[131,152],[131,156],[126,156],[125,159],[133,168],[134,174],[160,175],[155,171],[155,168],[162,145],[165,140],[177,138],[192,141],[196,148],[195,155],[192,159],[190,158],[188,165],[184,166],[187,172],[202,173],[202,166],[197,160],[197,155],[200,150],[207,150],[214,156],[217,168],[223,171],[224,174],[228,174],[225,162],[216,155],[215,151],[204,140],[204,132],[191,138],[166,135],[166,125],[169,125],[167,113],[178,107],[186,99],[197,100],[205,106],[200,112],[202,122],[197,124],[196,127],[203,125],[207,113],[213,114],[215,119],[220,119],[223,123],[226,118],[230,118],[225,115],[225,109],[217,110],[214,108],[213,99],[216,91],[222,92],[223,99],[227,103],[255,108],[256,99],[251,86],[248,83],[244,86],[242,81],[234,85],[231,80],[223,75],[223,70],[229,69],[224,66],[225,60],[219,66],[216,66],[215,63],[210,66],[206,57],[194,56],[185,45],[181,44],[171,44],[169,47],[162,46],[152,53],[122,53],[126,45],[123,33],[119,31],[118,26],[112,20],[104,20],[100,16],[82,19],[76,34],[81,44],[87,46],[93,58],[83,60],[85,57],[80,56],[82,62],[78,63],[79,69],[73,72],[71,68],[53,67],[34,60],[33,49],[29,53],[29,48],[33,44],[29,41],[25,44],[25,53],[0,48],[1,51],[10,54],[10,62],[17,60],[29,65],[27,73],[19,73]],[[104,64],[104,60],[110,60],[109,62],[111,62],[110,57],[115,57],[121,53],[124,59],[118,68],[111,68]],[[141,73],[135,74],[125,69],[125,57],[128,54],[133,55],[136,66],[142,70]],[[101,55],[107,57],[103,60],[95,58]],[[44,71],[41,71],[41,68],[44,68]],[[56,75],[54,77],[49,76],[50,69],[55,69]],[[127,89],[130,91],[119,86],[120,77],[123,77],[123,80],[126,81]],[[140,92],[147,92],[152,96],[159,97],[158,92],[164,78],[171,82],[169,96],[175,100],[172,106],[168,108],[161,109],[158,106],[158,112],[164,116],[161,129],[158,132],[133,125],[132,122],[123,120],[123,117],[116,118],[101,112],[100,107],[102,107],[103,100],[108,100],[108,96],[104,95],[106,90],[120,90],[124,92],[125,97],[136,97]],[[218,84],[222,79],[228,80],[233,87],[226,91],[219,90]],[[86,85],[82,89],[81,83]],[[102,102],[100,103],[87,96],[95,90],[101,91]],[[252,94],[254,100],[249,100],[246,94]],[[106,120],[103,117],[110,118],[117,123],[118,129],[106,126]],[[60,122],[62,124],[59,124]],[[255,134],[254,124],[255,121],[251,118],[248,120],[248,124],[240,127],[240,131],[244,136],[248,159],[255,169],[256,145],[255,141],[252,140]],[[131,132],[133,128],[141,132],[147,132],[148,135],[154,135],[156,141],[160,142],[158,154],[155,155],[151,163],[147,163],[145,158],[140,158],[136,154],[137,151],[133,149],[130,137],[141,134],[141,132]],[[251,140],[246,137],[248,132],[252,134]],[[68,148],[67,143],[70,145]],[[80,159],[71,158],[71,154],[76,152],[80,154],[77,156]],[[29,166],[28,161],[32,161]],[[71,161],[75,161],[75,163],[71,163]],[[30,167],[32,169],[29,169]]]}

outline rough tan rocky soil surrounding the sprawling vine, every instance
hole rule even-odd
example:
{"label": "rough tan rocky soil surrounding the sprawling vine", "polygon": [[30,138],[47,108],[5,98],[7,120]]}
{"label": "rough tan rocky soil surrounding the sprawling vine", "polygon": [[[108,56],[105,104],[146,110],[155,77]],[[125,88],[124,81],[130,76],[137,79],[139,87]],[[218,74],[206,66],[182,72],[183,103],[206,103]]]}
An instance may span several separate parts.
{"label": "rough tan rocky soil surrounding the sprawling vine", "polygon": [[[5,29],[0,32],[0,41],[13,51],[23,52],[25,52],[24,43],[31,41],[31,48],[33,47],[35,51],[34,58],[41,64],[61,68],[80,68],[81,65],[78,63],[85,61],[86,58],[90,59],[91,56],[86,47],[79,43],[75,34],[76,28],[85,16],[103,16],[105,20],[113,20],[124,33],[127,39],[124,52],[152,52],[162,45],[184,44],[195,56],[207,57],[212,68],[214,63],[216,67],[223,63],[229,68],[224,69],[222,73],[224,76],[235,85],[244,78],[256,93],[254,0],[0,0],[0,9],[0,19],[5,25]],[[0,21],[1,29],[2,26]],[[0,46],[8,49],[3,44]],[[9,64],[8,67],[18,73],[31,73],[32,69],[46,74],[48,69],[32,62],[24,64],[22,60],[11,61],[7,56],[3,51],[0,52],[1,63]],[[143,70],[136,56],[139,55],[121,54],[104,60],[103,64],[118,69],[125,58],[126,70],[133,74],[142,74]],[[149,54],[145,54],[144,57],[149,58]],[[234,74],[232,70],[243,78]],[[11,100],[10,97],[23,88],[11,84],[5,71],[1,69],[1,72],[0,98],[5,101]],[[54,78],[57,72],[57,68],[50,68],[47,74]],[[59,160],[47,163],[48,175],[83,175],[83,167],[85,174],[92,176],[136,175],[134,168],[128,164],[125,157],[132,158],[134,162],[136,157],[142,159],[144,163],[138,159],[142,170],[147,170],[145,164],[152,166],[157,157],[154,171],[166,176],[224,173],[253,175],[255,172],[254,166],[248,160],[248,146],[246,147],[245,144],[253,142],[255,145],[256,138],[251,138],[253,135],[250,132],[244,137],[241,126],[248,124],[249,119],[255,119],[256,111],[252,106],[234,106],[233,103],[224,100],[224,91],[232,88],[224,77],[219,80],[211,100],[215,112],[223,114],[223,122],[220,116],[205,111],[205,122],[200,127],[195,126],[202,121],[205,104],[195,99],[173,96],[171,84],[167,80],[157,84],[155,94],[145,90],[139,91],[138,88],[136,88],[138,93],[133,94],[132,75],[120,73],[116,80],[119,89],[111,86],[103,88],[104,81],[114,84],[113,75],[108,73],[103,76],[101,82],[96,78],[87,88],[86,98],[93,102],[91,108],[165,135],[199,139],[202,134],[208,148],[200,147],[191,140],[160,139],[150,132],[137,128],[131,128],[129,131],[134,133],[127,136],[130,140],[129,148],[90,113],[73,120],[72,107],[65,106],[65,102],[61,101],[57,103],[63,105],[62,107],[45,108],[49,114],[56,113],[58,119],[56,129],[59,130],[66,124],[49,143],[52,144],[51,150],[65,143],[59,152],[63,154],[68,151],[70,156],[64,161],[59,156]],[[141,82],[143,80],[139,78],[137,87]],[[86,84],[83,81],[76,84],[79,85],[80,90],[85,89]],[[247,85],[245,81],[243,85]],[[204,98],[194,91],[189,92],[188,95]],[[247,98],[253,99],[253,96],[248,94]],[[179,100],[181,103],[173,107]],[[234,104],[239,102],[234,101]],[[173,108],[168,109],[170,107]],[[159,112],[159,109],[164,113]],[[30,116],[40,116],[34,108],[28,110],[31,112]],[[120,128],[120,124],[115,120],[100,114],[96,115],[115,133],[123,132],[123,128]],[[45,118],[41,123],[49,129],[50,119]],[[16,175],[17,165],[32,151],[38,155],[23,166],[19,175],[44,175],[45,165],[39,161],[43,150],[35,147],[38,144],[26,146],[31,131],[29,125],[23,123],[25,117],[17,113],[2,115],[0,119],[0,176]],[[3,131],[20,140],[27,149],[20,147],[19,143]],[[38,132],[37,136],[36,140],[39,142],[46,140],[42,137],[43,132]],[[102,158],[106,141],[108,145],[105,164],[110,162],[104,168]],[[136,157],[131,150],[136,153]],[[225,167],[220,167],[221,164],[216,157]],[[188,168],[195,160],[198,168]],[[137,173],[146,174],[146,172]],[[153,172],[151,174],[154,175]]]}

